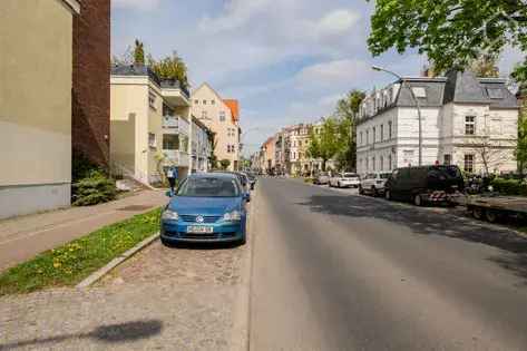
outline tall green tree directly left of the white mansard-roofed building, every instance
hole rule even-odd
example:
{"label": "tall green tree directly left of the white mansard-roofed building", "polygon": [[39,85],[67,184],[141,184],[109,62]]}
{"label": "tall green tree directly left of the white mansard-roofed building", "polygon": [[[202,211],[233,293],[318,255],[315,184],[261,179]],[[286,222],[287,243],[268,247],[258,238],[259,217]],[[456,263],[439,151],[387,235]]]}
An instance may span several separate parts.
{"label": "tall green tree directly left of the white mansard-roofed building", "polygon": [[351,90],[343,99],[336,103],[334,116],[338,120],[338,138],[340,149],[336,162],[340,168],[354,169],[357,167],[357,117],[365,92]]}

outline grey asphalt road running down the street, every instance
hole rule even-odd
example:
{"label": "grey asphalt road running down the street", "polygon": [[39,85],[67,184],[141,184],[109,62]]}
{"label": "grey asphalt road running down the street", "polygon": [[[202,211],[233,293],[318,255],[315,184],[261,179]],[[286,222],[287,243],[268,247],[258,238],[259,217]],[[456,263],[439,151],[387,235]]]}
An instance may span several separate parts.
{"label": "grey asphalt road running down the street", "polygon": [[251,350],[527,350],[527,240],[263,178]]}

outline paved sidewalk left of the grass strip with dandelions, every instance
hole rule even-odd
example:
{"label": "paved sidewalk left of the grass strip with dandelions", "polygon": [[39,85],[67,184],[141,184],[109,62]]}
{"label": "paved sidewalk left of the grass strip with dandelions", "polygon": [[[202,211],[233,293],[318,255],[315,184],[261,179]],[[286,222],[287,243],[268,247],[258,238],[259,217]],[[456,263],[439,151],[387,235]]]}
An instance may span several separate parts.
{"label": "paved sidewalk left of the grass strip with dandelions", "polygon": [[40,252],[167,202],[164,191],[144,191],[97,206],[71,207],[0,221],[0,272]]}

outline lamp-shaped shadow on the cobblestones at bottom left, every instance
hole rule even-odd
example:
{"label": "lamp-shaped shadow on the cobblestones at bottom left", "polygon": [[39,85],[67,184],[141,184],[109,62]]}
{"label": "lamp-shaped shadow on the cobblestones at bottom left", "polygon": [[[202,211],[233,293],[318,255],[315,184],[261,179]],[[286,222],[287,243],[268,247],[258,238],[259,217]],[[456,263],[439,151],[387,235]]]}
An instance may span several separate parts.
{"label": "lamp-shaped shadow on the cobblestones at bottom left", "polygon": [[0,344],[0,351],[29,347],[40,349],[51,347],[51,343],[58,343],[71,339],[91,339],[92,341],[107,343],[108,348],[111,348],[111,344],[152,338],[156,334],[159,334],[162,330],[163,322],[158,320],[126,322],[119,324],[101,325],[89,333],[62,334]]}

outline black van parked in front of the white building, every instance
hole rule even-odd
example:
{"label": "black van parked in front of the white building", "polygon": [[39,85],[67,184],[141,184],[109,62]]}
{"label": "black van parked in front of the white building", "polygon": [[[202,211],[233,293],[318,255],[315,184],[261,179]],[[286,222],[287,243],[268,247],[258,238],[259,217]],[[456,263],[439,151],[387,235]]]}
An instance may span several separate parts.
{"label": "black van parked in front of the white building", "polygon": [[404,167],[393,170],[386,184],[387,199],[426,203],[456,203],[465,182],[458,166]]}

